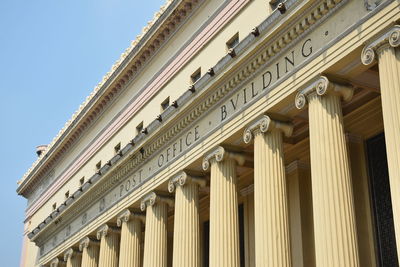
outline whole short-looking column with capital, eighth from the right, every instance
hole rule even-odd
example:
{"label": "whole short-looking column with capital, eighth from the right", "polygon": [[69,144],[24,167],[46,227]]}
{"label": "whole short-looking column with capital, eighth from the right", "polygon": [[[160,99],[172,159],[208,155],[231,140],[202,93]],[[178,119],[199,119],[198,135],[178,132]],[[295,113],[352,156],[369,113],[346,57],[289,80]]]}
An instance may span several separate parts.
{"label": "whole short-looking column with capital, eighth from the right", "polygon": [[100,240],[99,267],[118,267],[119,229],[104,224],[97,231]]}

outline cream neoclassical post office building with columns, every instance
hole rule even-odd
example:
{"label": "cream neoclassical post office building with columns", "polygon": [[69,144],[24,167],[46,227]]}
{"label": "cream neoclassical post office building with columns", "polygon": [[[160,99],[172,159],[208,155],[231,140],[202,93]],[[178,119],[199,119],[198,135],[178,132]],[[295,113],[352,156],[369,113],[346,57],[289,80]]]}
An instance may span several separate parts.
{"label": "cream neoclassical post office building with columns", "polygon": [[399,19],[169,1],[21,180],[22,266],[398,266]]}

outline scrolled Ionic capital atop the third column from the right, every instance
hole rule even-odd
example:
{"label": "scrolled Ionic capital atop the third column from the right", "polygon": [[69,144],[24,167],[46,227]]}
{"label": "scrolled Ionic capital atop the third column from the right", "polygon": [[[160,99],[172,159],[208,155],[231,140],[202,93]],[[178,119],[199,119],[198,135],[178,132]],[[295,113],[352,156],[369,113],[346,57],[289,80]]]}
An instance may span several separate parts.
{"label": "scrolled Ionic capital atop the third column from the right", "polygon": [[255,134],[267,133],[273,130],[281,131],[286,137],[293,133],[293,125],[291,123],[273,120],[267,115],[262,115],[255,119],[243,133],[243,140],[246,144],[250,143]]}

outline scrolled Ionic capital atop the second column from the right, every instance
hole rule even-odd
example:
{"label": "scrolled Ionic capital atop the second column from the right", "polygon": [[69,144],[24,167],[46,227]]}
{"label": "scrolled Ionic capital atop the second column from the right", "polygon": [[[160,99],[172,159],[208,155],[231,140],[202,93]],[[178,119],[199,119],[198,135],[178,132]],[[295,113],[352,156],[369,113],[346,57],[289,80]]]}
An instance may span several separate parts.
{"label": "scrolled Ionic capital atop the second column from the right", "polygon": [[325,76],[320,76],[309,86],[299,91],[296,95],[296,108],[303,109],[307,104],[307,99],[312,94],[323,96],[327,93],[338,95],[345,101],[350,101],[353,97],[354,88],[346,85],[340,85],[328,80]]}

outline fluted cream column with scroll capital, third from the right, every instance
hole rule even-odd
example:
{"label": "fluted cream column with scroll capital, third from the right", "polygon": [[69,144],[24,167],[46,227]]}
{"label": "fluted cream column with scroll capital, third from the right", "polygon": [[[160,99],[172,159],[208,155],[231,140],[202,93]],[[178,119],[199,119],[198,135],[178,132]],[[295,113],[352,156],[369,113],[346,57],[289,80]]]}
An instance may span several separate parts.
{"label": "fluted cream column with scroll capital, third from the right", "polygon": [[254,224],[256,266],[291,266],[288,200],[282,133],[293,127],[263,115],[244,132],[254,136]]}

